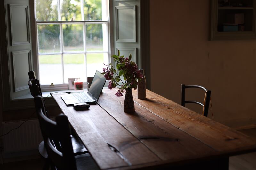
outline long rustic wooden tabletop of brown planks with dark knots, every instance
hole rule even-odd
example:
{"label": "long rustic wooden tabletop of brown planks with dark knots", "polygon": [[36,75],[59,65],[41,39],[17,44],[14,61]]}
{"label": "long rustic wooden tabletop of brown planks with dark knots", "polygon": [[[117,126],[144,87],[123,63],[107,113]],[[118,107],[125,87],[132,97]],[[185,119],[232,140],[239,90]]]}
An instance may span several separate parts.
{"label": "long rustic wooden tabletop of brown planks with dark knots", "polygon": [[227,169],[229,156],[256,149],[252,138],[149,90],[145,100],[133,90],[132,114],[123,112],[124,97],[114,93],[104,89],[98,104],[84,111],[52,95],[100,169]]}

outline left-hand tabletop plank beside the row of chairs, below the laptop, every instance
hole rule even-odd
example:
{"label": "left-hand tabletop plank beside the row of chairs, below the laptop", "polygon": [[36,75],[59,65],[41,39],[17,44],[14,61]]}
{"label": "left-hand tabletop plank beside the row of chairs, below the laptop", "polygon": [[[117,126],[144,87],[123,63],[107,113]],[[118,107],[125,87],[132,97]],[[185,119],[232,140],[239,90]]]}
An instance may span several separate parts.
{"label": "left-hand tabletop plank beside the row of chairs, below the laptop", "polygon": [[66,106],[60,94],[52,96],[101,169],[160,160],[99,105],[76,111]]}

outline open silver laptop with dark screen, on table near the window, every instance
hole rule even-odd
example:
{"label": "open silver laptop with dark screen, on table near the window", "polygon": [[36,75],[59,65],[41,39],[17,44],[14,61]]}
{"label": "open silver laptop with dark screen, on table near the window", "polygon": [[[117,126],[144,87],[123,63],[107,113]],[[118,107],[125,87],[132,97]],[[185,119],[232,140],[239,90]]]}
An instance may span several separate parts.
{"label": "open silver laptop with dark screen, on table near the window", "polygon": [[99,100],[100,93],[105,85],[106,78],[99,71],[96,71],[92,84],[88,92],[71,93],[61,95],[67,106],[72,106],[76,103],[87,103],[89,105],[96,104]]}

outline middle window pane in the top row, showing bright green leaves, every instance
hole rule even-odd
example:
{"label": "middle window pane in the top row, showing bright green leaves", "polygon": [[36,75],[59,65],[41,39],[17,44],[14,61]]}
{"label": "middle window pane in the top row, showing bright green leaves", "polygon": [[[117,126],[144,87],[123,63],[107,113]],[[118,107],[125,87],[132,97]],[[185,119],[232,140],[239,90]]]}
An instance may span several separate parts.
{"label": "middle window pane in the top row, showing bright green leaves", "polygon": [[60,11],[62,21],[82,20],[80,0],[60,0]]}

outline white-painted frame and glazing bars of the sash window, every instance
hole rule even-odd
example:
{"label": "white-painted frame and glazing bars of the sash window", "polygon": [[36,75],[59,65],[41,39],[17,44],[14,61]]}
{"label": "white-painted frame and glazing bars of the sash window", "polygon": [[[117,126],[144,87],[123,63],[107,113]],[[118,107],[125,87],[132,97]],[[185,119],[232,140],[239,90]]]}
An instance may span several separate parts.
{"label": "white-painted frame and glazing bars of the sash window", "polygon": [[[60,5],[59,3],[60,0],[58,0],[58,5]],[[83,0],[80,0],[81,2],[81,8],[83,7]],[[36,5],[35,5],[35,0],[33,0],[33,20],[34,20],[34,31],[35,31],[35,37],[34,40],[36,42],[36,46],[34,47],[34,57],[33,58],[33,65],[34,65],[34,70],[37,73],[37,78],[40,81],[40,77],[39,77],[39,57],[38,55],[53,55],[53,54],[59,54],[61,55],[61,67],[62,67],[62,77],[63,77],[63,84],[56,84],[56,85],[41,85],[41,90],[43,92],[45,91],[55,91],[55,90],[68,90],[68,84],[65,84],[64,82],[64,62],[63,62],[63,55],[64,54],[84,54],[85,55],[85,61],[87,59],[87,54],[92,54],[92,53],[108,53],[108,62],[111,62],[111,36],[110,36],[110,4],[109,4],[109,0],[106,0],[106,10],[107,10],[107,14],[108,14],[108,18],[106,20],[84,20],[84,21],[60,21],[60,12],[58,12],[58,20],[59,21],[37,21],[36,20]],[[84,11],[81,10],[81,14],[82,14],[82,20],[84,19]],[[42,24],[59,24],[60,25],[60,52],[59,53],[44,53],[44,54],[40,54],[39,53],[39,49],[38,49],[38,29],[37,26],[38,25],[42,25]],[[64,43],[63,43],[63,31],[62,31],[62,24],[83,24],[83,38],[84,38],[84,51],[69,51],[69,52],[64,52],[63,48],[64,48]],[[88,24],[106,24],[106,32],[107,32],[107,37],[108,37],[108,51],[87,51],[86,50],[86,25]],[[85,77],[87,78],[87,63],[86,64],[86,75]],[[86,80],[87,81],[87,80]],[[84,88],[87,88],[87,82],[84,82]]]}

